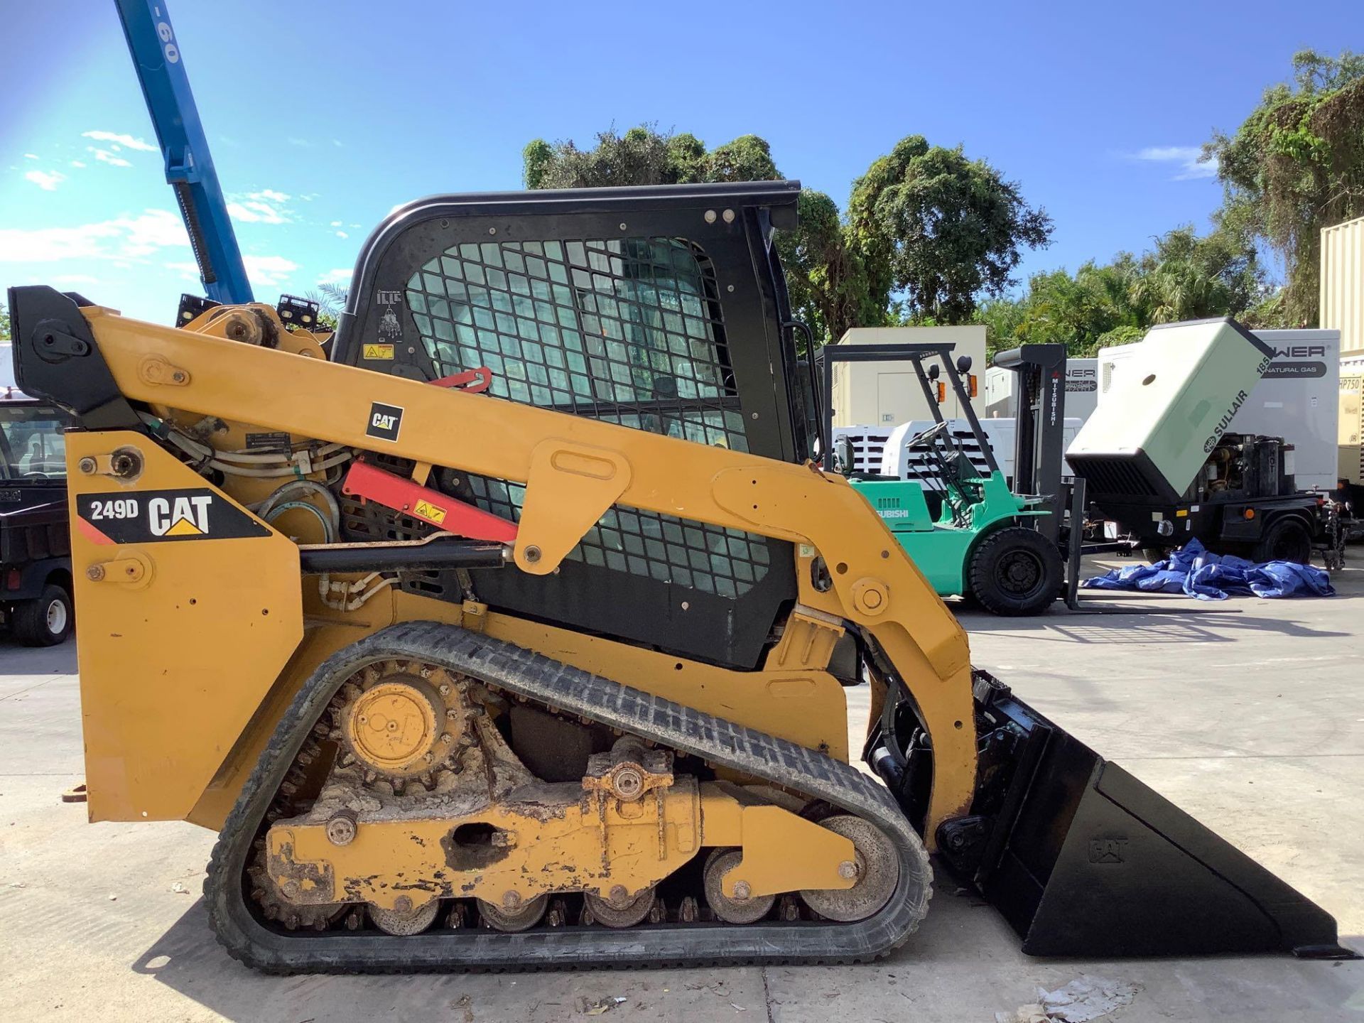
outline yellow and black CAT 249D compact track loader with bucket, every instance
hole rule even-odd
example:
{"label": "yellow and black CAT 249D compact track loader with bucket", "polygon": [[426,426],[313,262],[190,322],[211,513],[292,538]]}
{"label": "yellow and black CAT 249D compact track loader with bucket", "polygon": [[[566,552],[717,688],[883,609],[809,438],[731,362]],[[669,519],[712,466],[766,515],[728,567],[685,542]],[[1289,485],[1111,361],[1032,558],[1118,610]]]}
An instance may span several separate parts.
{"label": "yellow and black CAT 249D compact track loader with bucket", "polygon": [[[992,677],[818,409],[794,181],[446,196],[327,351],[10,292],[68,408],[91,820],[218,832],[276,971],[863,960],[929,853],[1042,955],[1349,955]],[[850,760],[843,686],[872,727]]]}

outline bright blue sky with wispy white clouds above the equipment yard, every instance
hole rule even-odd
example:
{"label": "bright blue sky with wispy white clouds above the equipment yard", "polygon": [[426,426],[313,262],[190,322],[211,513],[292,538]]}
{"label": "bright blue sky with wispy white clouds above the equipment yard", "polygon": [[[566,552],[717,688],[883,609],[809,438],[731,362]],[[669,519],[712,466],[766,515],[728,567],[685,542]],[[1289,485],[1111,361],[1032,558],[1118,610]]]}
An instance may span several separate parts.
{"label": "bright blue sky with wispy white clouds above the equipment yard", "polygon": [[[228,11],[231,10],[231,14]],[[1234,11],[1234,14],[1233,14]],[[170,15],[256,297],[345,282],[434,192],[520,187],[532,138],[655,121],[754,132],[846,199],[904,135],[966,146],[1056,221],[1022,273],[1206,226],[1192,162],[1300,48],[1364,48],[1359,0],[1284,3],[222,3]],[[113,4],[7,4],[0,285],[166,322],[202,293]]]}

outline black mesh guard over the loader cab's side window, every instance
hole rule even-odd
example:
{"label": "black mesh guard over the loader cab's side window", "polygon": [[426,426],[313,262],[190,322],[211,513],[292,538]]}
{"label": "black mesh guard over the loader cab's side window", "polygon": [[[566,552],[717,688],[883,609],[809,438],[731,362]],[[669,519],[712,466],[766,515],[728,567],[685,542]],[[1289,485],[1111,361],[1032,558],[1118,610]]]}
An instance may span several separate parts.
{"label": "black mesh guard over the loader cab's side window", "polygon": [[[480,366],[490,394],[747,450],[715,273],[681,239],[451,246],[408,281],[438,375]],[[475,503],[518,520],[525,487],[469,476]],[[765,537],[610,509],[567,555],[722,597],[767,573]]]}

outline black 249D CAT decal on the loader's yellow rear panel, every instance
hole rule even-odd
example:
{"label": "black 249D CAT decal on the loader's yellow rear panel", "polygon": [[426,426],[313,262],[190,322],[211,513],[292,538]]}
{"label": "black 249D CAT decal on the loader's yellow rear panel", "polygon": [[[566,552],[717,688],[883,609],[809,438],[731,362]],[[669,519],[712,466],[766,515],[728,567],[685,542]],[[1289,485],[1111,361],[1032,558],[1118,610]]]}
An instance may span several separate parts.
{"label": "black 249D CAT decal on the loader's yellow rear panel", "polygon": [[211,490],[146,490],[130,496],[78,494],[80,532],[95,543],[240,540],[270,531]]}

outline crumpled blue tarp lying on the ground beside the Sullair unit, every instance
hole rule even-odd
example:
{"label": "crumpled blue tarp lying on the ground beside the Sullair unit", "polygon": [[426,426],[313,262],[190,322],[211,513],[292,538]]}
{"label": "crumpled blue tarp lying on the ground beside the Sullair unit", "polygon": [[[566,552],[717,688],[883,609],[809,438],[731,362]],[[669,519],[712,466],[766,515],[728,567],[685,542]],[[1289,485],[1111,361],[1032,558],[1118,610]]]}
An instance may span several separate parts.
{"label": "crumpled blue tarp lying on the ground beside the Sullair unit", "polygon": [[1292,597],[1335,596],[1331,577],[1311,565],[1270,561],[1256,565],[1230,554],[1213,554],[1189,540],[1166,561],[1129,565],[1080,585],[1093,589],[1138,589],[1146,593],[1185,593],[1199,600],[1229,596]]}

